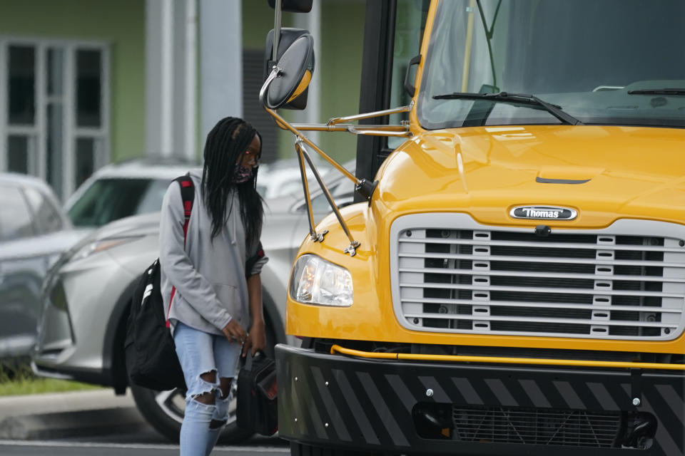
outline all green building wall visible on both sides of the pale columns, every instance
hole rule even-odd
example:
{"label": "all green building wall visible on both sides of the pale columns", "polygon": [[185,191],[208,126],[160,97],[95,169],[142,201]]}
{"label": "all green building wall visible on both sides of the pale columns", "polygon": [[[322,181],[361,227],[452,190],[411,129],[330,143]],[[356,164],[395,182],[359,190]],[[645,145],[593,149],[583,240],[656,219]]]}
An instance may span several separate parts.
{"label": "all green building wall visible on both sides of the pale columns", "polygon": [[[0,35],[31,38],[65,38],[104,41],[110,47],[110,161],[144,155],[146,2],[143,0],[2,0]],[[316,56],[319,78],[320,119],[358,112],[361,49],[365,2],[321,0],[322,52]],[[273,28],[273,9],[266,1],[243,0],[243,48],[263,51],[265,36]],[[86,19],[83,19],[86,18]],[[295,14],[284,14],[283,26],[293,26]],[[251,103],[245,100],[245,103]],[[254,100],[257,103],[257,100]],[[288,120],[298,113],[283,110]],[[292,135],[278,133],[280,157],[294,157]],[[355,155],[356,138],[347,133],[324,133],[320,145],[336,160]],[[204,138],[198,138],[201,154]]]}

